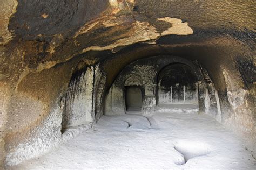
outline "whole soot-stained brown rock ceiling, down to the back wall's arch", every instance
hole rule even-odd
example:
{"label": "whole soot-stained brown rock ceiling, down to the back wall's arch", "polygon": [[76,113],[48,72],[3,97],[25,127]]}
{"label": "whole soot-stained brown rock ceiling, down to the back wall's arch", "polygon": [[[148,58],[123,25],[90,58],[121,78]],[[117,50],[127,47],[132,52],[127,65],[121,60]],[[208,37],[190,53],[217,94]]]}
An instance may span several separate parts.
{"label": "whole soot-stained brown rock ceiling, down to the back wall's arch", "polygon": [[255,1],[1,3],[0,80],[13,88],[29,74],[69,63],[70,72],[77,63],[103,63],[109,84],[125,65],[154,55],[199,60],[220,82],[223,65],[254,63]]}

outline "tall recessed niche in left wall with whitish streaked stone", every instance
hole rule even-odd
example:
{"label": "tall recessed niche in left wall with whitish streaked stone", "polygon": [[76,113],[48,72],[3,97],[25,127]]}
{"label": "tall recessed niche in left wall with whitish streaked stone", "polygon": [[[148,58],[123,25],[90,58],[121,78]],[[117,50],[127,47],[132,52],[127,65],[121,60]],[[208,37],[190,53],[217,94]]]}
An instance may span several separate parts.
{"label": "tall recessed niche in left wall with whitish streaked stone", "polygon": [[94,72],[93,67],[88,67],[71,79],[64,102],[63,128],[92,122]]}

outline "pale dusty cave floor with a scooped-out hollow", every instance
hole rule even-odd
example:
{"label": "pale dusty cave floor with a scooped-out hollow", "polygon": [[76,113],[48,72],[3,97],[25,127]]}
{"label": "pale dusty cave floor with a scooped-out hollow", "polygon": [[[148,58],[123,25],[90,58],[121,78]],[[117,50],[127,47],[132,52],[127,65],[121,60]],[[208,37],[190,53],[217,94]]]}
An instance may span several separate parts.
{"label": "pale dusty cave floor with a scooped-out hollow", "polygon": [[256,169],[241,140],[207,115],[103,116],[13,169]]}

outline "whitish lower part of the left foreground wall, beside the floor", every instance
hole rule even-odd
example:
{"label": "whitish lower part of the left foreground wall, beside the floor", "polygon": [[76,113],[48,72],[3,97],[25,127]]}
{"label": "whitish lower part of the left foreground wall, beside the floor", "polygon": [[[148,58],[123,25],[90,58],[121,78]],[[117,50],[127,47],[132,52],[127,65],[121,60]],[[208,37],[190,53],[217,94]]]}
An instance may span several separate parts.
{"label": "whitish lower part of the left foreground wall, beside the floor", "polygon": [[[6,146],[6,165],[16,165],[24,160],[37,157],[56,146],[61,138],[62,107],[53,107],[45,119],[29,131],[23,131],[19,140],[11,138]],[[17,138],[17,136],[16,136]]]}

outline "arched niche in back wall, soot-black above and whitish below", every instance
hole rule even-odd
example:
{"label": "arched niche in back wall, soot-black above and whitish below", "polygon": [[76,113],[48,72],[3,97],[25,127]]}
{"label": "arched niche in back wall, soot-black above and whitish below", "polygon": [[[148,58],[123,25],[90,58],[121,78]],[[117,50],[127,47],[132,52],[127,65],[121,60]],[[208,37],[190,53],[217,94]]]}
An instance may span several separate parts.
{"label": "arched niche in back wall, soot-black above and whitish below", "polygon": [[157,79],[158,106],[198,108],[198,78],[193,72],[183,63],[161,69]]}

